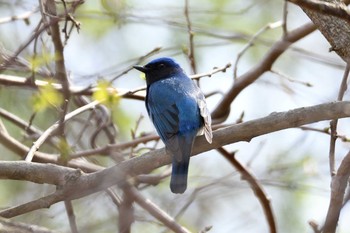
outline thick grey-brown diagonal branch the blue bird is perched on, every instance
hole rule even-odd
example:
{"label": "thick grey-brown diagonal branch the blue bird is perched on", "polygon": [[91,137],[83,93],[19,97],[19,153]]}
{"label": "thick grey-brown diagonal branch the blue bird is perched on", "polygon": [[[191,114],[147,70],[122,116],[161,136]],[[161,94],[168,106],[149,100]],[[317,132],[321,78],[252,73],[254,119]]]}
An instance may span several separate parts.
{"label": "thick grey-brown diagonal branch the blue bird is perched on", "polygon": [[[345,117],[350,117],[349,101],[332,102],[312,107],[298,108],[287,112],[272,113],[269,116],[257,120],[232,125],[214,131],[212,144],[208,144],[203,136],[198,137],[194,144],[193,155],[239,141],[250,141],[254,137],[271,132],[298,127],[318,121]],[[81,198],[105,190],[115,184],[122,185],[124,184],[126,177],[147,174],[158,167],[169,164],[170,162],[171,158],[166,154],[165,149],[163,148],[145,153],[143,156],[132,158],[95,173],[86,174],[79,171],[79,173],[77,173],[78,176],[65,179],[62,188],[56,193],[49,195],[47,197],[48,200],[45,198],[38,199],[37,206],[32,204],[30,208],[22,208],[22,206],[9,208],[1,211],[0,216],[10,218],[35,209],[49,207],[50,205],[62,200]],[[16,174],[19,172],[18,169],[25,169],[24,166],[18,166],[18,163],[26,162],[0,163],[0,171],[4,166],[7,166],[7,169],[10,169],[9,167],[12,166],[13,174]],[[27,166],[31,166],[31,163],[27,163]],[[67,169],[65,171],[67,173],[71,172],[69,168],[62,167],[62,169]],[[28,171],[29,170],[25,169],[22,172]],[[11,177],[7,177],[7,179],[11,179]]]}

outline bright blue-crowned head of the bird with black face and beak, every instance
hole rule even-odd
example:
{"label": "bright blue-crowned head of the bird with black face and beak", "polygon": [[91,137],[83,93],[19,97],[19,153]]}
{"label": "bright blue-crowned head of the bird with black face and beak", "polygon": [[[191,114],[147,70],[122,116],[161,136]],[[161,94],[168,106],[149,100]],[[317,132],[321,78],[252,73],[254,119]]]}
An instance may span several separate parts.
{"label": "bright blue-crowned head of the bird with black face and beak", "polygon": [[183,72],[179,64],[168,57],[157,58],[145,66],[134,66],[134,68],[145,73],[147,86]]}

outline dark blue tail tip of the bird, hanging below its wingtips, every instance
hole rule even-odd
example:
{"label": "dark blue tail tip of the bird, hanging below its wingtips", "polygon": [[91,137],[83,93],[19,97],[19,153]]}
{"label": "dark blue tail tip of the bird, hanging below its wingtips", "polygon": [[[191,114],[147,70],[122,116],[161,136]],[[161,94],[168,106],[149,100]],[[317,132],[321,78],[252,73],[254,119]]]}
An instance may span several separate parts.
{"label": "dark blue tail tip of the bird, hanging below its wingtips", "polygon": [[183,156],[182,161],[173,157],[173,170],[171,173],[170,190],[173,193],[184,193],[187,188],[187,174],[190,156]]}

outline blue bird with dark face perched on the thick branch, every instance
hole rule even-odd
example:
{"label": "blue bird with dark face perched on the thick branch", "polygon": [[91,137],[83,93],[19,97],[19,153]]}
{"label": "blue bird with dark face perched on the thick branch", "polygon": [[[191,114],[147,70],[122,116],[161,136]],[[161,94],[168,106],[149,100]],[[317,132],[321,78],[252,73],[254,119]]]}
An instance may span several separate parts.
{"label": "blue bird with dark face perched on the thick branch", "polygon": [[211,115],[204,94],[172,58],[157,58],[134,68],[146,76],[146,109],[172,157],[170,190],[184,193],[196,136],[204,134],[212,143]]}

